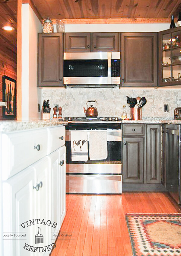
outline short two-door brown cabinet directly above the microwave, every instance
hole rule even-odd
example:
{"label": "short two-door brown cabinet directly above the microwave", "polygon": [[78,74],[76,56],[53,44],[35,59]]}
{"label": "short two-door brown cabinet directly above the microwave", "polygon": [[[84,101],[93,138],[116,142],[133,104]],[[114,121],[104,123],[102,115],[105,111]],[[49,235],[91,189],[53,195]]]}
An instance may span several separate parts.
{"label": "short two-door brown cabinet directly above the microwave", "polygon": [[119,33],[65,33],[65,52],[119,52]]}

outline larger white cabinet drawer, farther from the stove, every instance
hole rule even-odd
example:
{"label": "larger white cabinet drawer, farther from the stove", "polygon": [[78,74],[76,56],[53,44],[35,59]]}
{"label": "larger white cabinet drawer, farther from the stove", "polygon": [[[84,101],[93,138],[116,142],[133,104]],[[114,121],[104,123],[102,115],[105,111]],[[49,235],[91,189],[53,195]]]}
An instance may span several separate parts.
{"label": "larger white cabinet drawer, farther from the stove", "polygon": [[46,152],[47,129],[2,134],[3,180],[38,161]]}

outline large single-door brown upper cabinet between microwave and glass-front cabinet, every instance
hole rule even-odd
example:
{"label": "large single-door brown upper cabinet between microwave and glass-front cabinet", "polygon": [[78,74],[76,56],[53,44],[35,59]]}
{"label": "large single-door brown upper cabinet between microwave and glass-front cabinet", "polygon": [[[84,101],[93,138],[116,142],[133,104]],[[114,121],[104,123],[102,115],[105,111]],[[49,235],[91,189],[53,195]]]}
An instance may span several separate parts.
{"label": "large single-door brown upper cabinet between microwave and glass-front cabinet", "polygon": [[157,33],[121,33],[121,85],[157,86]]}

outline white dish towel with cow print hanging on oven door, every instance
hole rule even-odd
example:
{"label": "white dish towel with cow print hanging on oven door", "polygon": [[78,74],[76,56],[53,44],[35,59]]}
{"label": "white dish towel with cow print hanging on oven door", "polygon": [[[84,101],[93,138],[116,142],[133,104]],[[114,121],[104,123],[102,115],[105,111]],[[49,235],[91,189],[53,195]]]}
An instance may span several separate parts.
{"label": "white dish towel with cow print hanging on oven door", "polygon": [[86,131],[71,131],[71,161],[88,161]]}

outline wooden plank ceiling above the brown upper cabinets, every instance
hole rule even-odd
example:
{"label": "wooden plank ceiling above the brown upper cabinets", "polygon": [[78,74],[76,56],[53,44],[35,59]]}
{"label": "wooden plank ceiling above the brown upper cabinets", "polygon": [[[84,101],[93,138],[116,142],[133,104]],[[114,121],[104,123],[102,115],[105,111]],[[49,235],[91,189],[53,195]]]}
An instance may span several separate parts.
{"label": "wooden plank ceiling above the brown upper cabinets", "polygon": [[45,19],[170,18],[181,0],[32,0]]}

